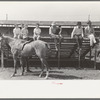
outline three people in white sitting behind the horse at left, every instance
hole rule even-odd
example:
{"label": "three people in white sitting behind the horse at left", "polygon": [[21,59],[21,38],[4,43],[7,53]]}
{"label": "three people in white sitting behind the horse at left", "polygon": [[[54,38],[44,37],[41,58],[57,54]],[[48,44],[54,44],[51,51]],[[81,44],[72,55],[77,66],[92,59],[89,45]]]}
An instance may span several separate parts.
{"label": "three people in white sitting behind the horse at left", "polygon": [[[29,40],[29,31],[28,25],[22,24],[21,28],[18,26],[19,24],[15,24],[15,28],[13,29],[14,38],[16,39],[24,39]],[[38,40],[40,38],[41,29],[39,28],[39,24],[36,24],[36,28],[33,30],[34,35],[33,39]]]}

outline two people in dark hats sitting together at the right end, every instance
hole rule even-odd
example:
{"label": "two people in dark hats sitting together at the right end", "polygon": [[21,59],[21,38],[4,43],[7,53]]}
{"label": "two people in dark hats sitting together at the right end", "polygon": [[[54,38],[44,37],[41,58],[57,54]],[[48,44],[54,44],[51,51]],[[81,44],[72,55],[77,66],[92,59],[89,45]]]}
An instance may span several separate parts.
{"label": "two people in dark hats sitting together at the right end", "polygon": [[85,27],[84,32],[81,22],[77,22],[77,26],[74,27],[72,31],[71,38],[76,39],[78,49],[81,49],[84,37],[90,39],[90,47],[93,47],[96,44],[95,32],[92,27],[92,22],[90,20],[87,22],[87,26]]}

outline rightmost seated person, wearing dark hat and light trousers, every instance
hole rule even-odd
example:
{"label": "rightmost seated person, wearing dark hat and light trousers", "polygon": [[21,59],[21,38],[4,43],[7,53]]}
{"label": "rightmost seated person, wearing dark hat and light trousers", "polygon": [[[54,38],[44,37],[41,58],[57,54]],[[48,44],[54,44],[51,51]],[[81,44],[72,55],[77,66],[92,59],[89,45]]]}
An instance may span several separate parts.
{"label": "rightmost seated person, wearing dark hat and light trousers", "polygon": [[90,46],[93,47],[93,45],[96,43],[96,40],[94,36],[92,22],[90,20],[87,22],[87,27],[85,28],[85,35],[90,39]]}

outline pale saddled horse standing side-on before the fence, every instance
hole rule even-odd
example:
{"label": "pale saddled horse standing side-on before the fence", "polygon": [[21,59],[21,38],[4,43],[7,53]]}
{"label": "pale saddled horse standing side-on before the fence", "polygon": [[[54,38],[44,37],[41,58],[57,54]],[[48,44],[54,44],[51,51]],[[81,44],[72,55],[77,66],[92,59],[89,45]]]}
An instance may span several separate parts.
{"label": "pale saddled horse standing side-on before the fence", "polygon": [[13,61],[14,61],[14,73],[12,74],[12,77],[15,76],[17,73],[17,60],[19,57],[20,65],[22,68],[21,75],[24,75],[24,67],[25,67],[25,59],[32,56],[34,53],[38,56],[42,63],[42,70],[39,74],[39,77],[42,76],[44,72],[44,68],[46,67],[46,76],[45,79],[48,78],[49,75],[49,66],[46,61],[46,55],[48,54],[50,50],[50,45],[47,42],[36,40],[29,43],[26,43],[27,41],[22,39],[15,39],[10,36],[5,36],[0,33],[0,40],[3,43],[6,43],[11,48],[11,53],[13,55]]}

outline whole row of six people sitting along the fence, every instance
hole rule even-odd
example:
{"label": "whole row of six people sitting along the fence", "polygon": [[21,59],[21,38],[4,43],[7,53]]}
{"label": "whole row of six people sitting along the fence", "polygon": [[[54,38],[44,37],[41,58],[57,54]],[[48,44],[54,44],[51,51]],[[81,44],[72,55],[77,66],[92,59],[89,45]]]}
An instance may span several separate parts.
{"label": "whole row of six people sitting along the fence", "polygon": [[[18,24],[16,24],[15,28],[13,29],[13,33],[14,33],[14,38],[16,39],[21,38],[28,41],[28,38],[29,38],[28,25],[22,24],[21,28],[19,28]],[[39,40],[41,36],[41,29],[39,27],[39,23],[36,24],[36,27],[34,28],[33,33],[34,33],[33,40],[34,41]],[[51,36],[51,38],[54,39],[55,49],[57,51],[58,51],[58,47],[57,47],[58,40],[62,39],[61,33],[62,33],[61,26],[53,22],[49,28],[49,35]],[[92,27],[92,22],[90,20],[87,22],[87,27],[85,28],[84,32],[82,28],[82,23],[77,22],[77,25],[74,27],[71,33],[71,38],[76,39],[77,46],[79,49],[81,49],[82,47],[82,41],[84,37],[87,37],[90,39],[90,46],[93,47],[93,45],[96,43],[96,39],[95,39],[94,29]]]}

